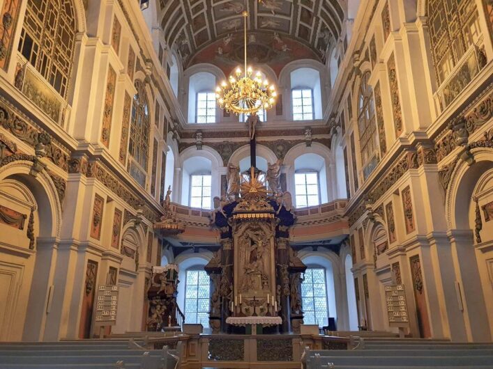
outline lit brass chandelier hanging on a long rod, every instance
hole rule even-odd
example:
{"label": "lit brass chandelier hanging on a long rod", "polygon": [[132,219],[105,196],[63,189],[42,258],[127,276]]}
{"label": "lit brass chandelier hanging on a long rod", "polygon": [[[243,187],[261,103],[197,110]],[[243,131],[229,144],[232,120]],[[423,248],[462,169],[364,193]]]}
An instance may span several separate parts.
{"label": "lit brass chandelier hanging on a long rod", "polygon": [[[222,81],[220,86],[215,89],[215,99],[221,109],[227,112],[232,111],[235,114],[257,114],[261,109],[271,109],[275,104],[275,98],[278,93],[275,91],[273,84],[269,85],[268,80],[262,80],[261,72],[255,73],[251,67],[247,68],[247,33],[246,24],[248,13],[243,12],[244,17],[244,55],[245,69],[236,68],[236,78],[229,76],[228,82]],[[243,74],[243,77],[241,77]]]}

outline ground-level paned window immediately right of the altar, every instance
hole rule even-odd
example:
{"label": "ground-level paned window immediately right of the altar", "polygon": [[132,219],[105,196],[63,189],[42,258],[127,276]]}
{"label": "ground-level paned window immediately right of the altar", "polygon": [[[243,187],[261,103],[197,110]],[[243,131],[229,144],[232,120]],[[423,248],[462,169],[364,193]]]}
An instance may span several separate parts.
{"label": "ground-level paned window immediately right of the altar", "polygon": [[305,324],[323,326],[328,318],[327,284],[324,268],[308,268],[301,283],[301,301],[303,303],[303,321]]}

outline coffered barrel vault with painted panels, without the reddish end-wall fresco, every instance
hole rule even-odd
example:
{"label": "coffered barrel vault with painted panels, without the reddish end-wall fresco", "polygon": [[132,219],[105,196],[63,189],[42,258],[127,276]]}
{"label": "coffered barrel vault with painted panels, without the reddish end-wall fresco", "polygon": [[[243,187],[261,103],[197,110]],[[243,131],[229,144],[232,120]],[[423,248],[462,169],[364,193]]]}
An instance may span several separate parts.
{"label": "coffered barrel vault with painted panels, without the reddish end-wall fresco", "polygon": [[[296,41],[321,59],[342,30],[339,0],[160,0],[159,21],[186,68],[207,45],[222,40],[227,46],[241,38],[245,6],[249,33],[260,39],[264,35],[271,45],[277,42],[280,51],[289,51]],[[222,47],[218,49],[222,53]]]}

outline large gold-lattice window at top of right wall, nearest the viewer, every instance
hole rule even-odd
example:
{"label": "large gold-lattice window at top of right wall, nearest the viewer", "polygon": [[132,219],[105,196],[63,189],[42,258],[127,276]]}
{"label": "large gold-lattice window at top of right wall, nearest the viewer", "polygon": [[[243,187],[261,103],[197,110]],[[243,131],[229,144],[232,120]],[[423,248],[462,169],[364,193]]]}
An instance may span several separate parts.
{"label": "large gold-lattice window at top of right wall, nearest the viewer", "polygon": [[478,10],[474,0],[428,0],[428,24],[438,84],[480,38]]}

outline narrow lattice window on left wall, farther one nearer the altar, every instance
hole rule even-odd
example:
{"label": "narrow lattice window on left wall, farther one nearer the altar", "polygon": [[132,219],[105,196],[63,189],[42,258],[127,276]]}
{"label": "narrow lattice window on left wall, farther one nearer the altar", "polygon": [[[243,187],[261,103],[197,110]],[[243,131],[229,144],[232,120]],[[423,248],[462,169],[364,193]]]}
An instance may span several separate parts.
{"label": "narrow lattice window on left wall, farther one nearer the altar", "polygon": [[137,93],[132,102],[132,119],[130,121],[130,143],[128,152],[130,160],[128,171],[142,187],[146,187],[147,162],[149,159],[149,104],[144,84],[135,81]]}

